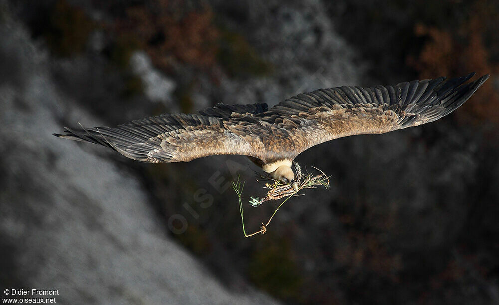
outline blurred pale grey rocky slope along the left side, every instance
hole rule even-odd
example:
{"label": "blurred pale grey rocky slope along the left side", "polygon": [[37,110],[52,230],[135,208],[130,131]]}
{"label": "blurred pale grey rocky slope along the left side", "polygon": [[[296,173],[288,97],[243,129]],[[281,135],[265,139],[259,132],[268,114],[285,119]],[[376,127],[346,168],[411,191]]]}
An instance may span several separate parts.
{"label": "blurred pale grey rocky slope along the left side", "polygon": [[61,119],[99,124],[54,84],[50,59],[1,25],[2,288],[58,289],[65,304],[273,304],[228,290],[165,234],[137,178],[51,135]]}

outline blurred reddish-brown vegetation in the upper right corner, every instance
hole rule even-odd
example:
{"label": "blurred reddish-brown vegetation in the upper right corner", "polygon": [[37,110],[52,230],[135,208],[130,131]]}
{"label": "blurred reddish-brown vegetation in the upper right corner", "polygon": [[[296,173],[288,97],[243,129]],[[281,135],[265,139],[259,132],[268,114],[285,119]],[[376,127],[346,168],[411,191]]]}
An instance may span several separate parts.
{"label": "blurred reddish-brown vegetation in the upper right corner", "polygon": [[499,72],[499,64],[491,60],[494,43],[487,45],[484,37],[494,24],[487,24],[486,15],[494,12],[485,6],[477,5],[471,17],[463,21],[459,31],[448,31],[422,24],[415,26],[415,34],[427,37],[417,58],[409,57],[408,64],[414,67],[421,78],[438,75],[457,76],[477,72],[477,75],[491,74],[489,81],[464,104],[467,117],[463,119],[499,123],[499,92],[494,88],[494,78]]}

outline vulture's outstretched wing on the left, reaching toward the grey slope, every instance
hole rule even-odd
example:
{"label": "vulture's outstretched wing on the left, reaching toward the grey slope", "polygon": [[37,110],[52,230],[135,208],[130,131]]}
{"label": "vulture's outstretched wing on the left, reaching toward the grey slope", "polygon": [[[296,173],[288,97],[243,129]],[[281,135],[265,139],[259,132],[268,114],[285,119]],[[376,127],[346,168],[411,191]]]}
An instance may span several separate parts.
{"label": "vulture's outstretched wing on the left, reaching toward the grey slope", "polygon": [[217,155],[253,155],[250,144],[254,135],[238,134],[237,126],[228,126],[231,118],[252,117],[267,111],[267,104],[224,105],[197,114],[164,114],[135,120],[115,128],[103,126],[69,129],[57,137],[101,144],[134,160],[187,162]]}

